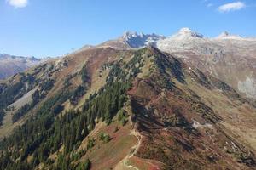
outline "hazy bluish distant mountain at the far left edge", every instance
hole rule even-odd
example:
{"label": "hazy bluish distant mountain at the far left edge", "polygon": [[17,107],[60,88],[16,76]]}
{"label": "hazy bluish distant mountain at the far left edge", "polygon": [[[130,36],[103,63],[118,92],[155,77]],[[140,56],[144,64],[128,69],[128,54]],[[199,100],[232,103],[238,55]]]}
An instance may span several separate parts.
{"label": "hazy bluish distant mountain at the far left edge", "polygon": [[38,65],[44,59],[37,59],[35,57],[21,57],[9,54],[0,54],[0,79],[10,77],[18,72]]}

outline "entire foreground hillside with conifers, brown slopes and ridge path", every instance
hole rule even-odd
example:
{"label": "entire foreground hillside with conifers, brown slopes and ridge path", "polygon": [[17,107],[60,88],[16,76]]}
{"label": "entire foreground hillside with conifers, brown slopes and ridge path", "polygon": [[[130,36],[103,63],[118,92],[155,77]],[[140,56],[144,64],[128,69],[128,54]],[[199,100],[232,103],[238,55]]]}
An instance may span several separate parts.
{"label": "entire foreground hillside with conifers, brown slopes and ridge path", "polygon": [[38,65],[1,82],[0,111],[1,169],[256,169],[255,105],[153,47]]}

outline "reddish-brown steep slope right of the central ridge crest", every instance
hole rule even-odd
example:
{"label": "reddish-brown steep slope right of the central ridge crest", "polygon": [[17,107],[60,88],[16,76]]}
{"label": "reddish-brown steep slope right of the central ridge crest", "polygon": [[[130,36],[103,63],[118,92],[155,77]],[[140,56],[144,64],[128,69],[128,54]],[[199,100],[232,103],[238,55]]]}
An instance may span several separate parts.
{"label": "reddish-brown steep slope right of the central ridge crest", "polygon": [[143,169],[143,158],[166,169],[254,169],[255,108],[224,82],[157,50],[154,66],[129,92],[143,136],[133,165]]}

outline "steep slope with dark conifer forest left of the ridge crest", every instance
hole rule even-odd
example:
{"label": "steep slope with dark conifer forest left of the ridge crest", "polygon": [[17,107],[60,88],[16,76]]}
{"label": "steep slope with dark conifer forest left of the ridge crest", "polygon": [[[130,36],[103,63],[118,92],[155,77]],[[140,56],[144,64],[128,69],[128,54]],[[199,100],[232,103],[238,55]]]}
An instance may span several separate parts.
{"label": "steep slope with dark conifer forest left of the ridge crest", "polygon": [[[84,158],[86,150],[93,148],[93,151],[88,153],[93,154],[90,161],[95,163],[102,160],[102,150],[109,150],[108,147],[112,145],[119,150],[116,150],[115,157],[109,155],[110,157],[106,158],[112,160],[106,165],[115,165],[121,161],[136,143],[136,138],[129,135],[130,122],[126,112],[123,112],[124,116],[115,123],[116,125],[112,118],[121,110],[126,100],[125,91],[131,84],[129,80],[134,75],[132,72],[121,71],[117,65],[118,62],[123,63],[124,58],[128,62],[135,54],[132,51],[117,51],[113,48],[89,49],[64,59],[55,59],[3,82],[0,97],[5,101],[1,103],[1,109],[5,112],[4,118],[16,117],[13,119],[12,128],[21,126],[11,134],[3,133],[9,137],[3,139],[0,144],[1,168],[53,169],[64,164],[66,169],[82,168],[85,165],[83,162],[79,163],[79,160]],[[134,65],[133,62],[126,64],[131,68],[135,68]],[[124,74],[128,73],[132,74],[124,77]],[[119,81],[113,79],[116,74],[120,74]],[[31,77],[31,83],[25,77]],[[120,79],[124,81],[120,82]],[[19,88],[20,94],[15,93],[15,87]],[[15,101],[25,99],[22,96],[30,93],[30,89],[36,89],[31,95],[32,103],[27,103],[28,107],[21,106],[21,110],[16,106],[12,108],[16,103],[22,103]],[[4,100],[6,96],[9,96],[9,100]],[[13,102],[15,103],[12,104]],[[90,144],[86,144],[83,140],[87,139],[85,137],[89,133],[93,136],[96,120],[100,120],[104,126],[111,123],[108,127],[100,128],[102,133],[108,132],[108,135],[111,135],[111,141],[108,141],[106,134],[107,137],[91,139]],[[4,123],[1,131],[5,128]],[[96,133],[94,138],[98,138],[98,135]],[[108,146],[102,140],[111,145]],[[96,151],[94,142],[103,143],[105,149]],[[13,149],[9,150],[9,146]],[[67,156],[73,163],[66,160]],[[16,162],[15,167],[13,162]]]}

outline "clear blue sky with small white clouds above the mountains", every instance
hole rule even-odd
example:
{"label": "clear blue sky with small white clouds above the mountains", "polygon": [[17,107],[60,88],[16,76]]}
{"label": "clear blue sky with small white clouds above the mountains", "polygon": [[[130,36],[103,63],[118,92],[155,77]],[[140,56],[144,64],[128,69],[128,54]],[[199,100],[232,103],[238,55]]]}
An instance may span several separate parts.
{"label": "clear blue sky with small white clouds above the mountains", "polygon": [[256,37],[256,1],[0,0],[0,54],[55,57],[125,31]]}

